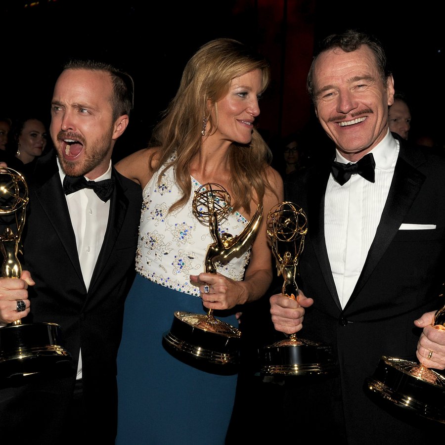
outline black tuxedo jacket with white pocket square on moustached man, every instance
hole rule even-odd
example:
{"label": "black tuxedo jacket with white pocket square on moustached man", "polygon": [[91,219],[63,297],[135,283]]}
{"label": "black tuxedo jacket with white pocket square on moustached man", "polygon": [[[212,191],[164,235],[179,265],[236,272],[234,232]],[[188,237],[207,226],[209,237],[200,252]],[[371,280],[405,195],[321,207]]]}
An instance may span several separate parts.
{"label": "black tuxedo jacket with white pocket square on moustached man", "polygon": [[[382,407],[363,389],[381,356],[417,362],[421,331],[413,322],[445,303],[440,297],[445,277],[445,160],[431,149],[393,136],[400,141],[394,177],[365,264],[344,309],[324,233],[330,165],[314,167],[298,182],[286,184],[286,199],[301,206],[308,217],[299,274],[301,289],[314,303],[306,310],[297,335],[331,345],[337,361],[331,377],[315,379],[306,387],[295,379],[288,385],[294,388],[288,402],[302,408],[303,416],[311,412],[316,417],[320,428],[315,438],[338,434],[348,444],[425,440],[422,422],[416,424],[421,420],[418,416],[408,418],[403,408],[392,409],[391,403]],[[436,228],[423,229],[429,224]],[[298,417],[295,410],[293,415]],[[436,423],[434,427],[440,428]]]}

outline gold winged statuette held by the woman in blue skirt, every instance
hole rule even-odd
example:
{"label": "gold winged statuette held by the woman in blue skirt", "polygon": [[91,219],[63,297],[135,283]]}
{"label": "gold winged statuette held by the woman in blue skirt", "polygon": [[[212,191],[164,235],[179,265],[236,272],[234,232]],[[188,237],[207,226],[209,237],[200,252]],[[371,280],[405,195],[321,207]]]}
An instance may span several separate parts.
{"label": "gold winged statuette held by the woman in blue skirt", "polygon": [[[207,183],[195,191],[193,211],[201,223],[209,225],[214,240],[207,248],[205,271],[216,273],[215,262],[223,262],[234,253],[248,248],[260,227],[263,207],[258,206],[252,220],[239,235],[220,234],[218,220],[230,210],[230,195],[219,184]],[[207,314],[175,312],[169,332],[162,343],[172,355],[209,372],[232,374],[237,371],[241,332]]]}

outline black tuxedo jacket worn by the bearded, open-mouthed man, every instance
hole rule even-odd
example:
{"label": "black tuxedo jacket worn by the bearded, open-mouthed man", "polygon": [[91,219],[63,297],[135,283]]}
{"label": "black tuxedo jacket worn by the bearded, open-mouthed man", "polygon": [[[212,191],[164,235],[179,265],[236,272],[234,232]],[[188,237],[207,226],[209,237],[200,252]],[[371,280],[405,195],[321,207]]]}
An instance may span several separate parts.
{"label": "black tuxedo jacket worn by the bearded, open-mouthed man", "polygon": [[[108,413],[105,429],[114,430],[116,356],[122,334],[124,301],[135,275],[142,192],[138,184],[124,178],[114,168],[112,177],[116,185],[110,198],[107,229],[87,291],[55,152],[38,161],[29,181],[29,203],[21,237],[21,265],[23,270],[31,272],[36,282],[28,288],[31,312],[23,322],[60,325],[63,346],[73,357],[73,372],[68,378],[49,379],[46,387],[41,382],[20,386],[15,393],[5,396],[9,404],[0,391],[0,419],[9,418],[12,424],[17,424],[10,414],[14,412],[11,405],[18,406],[22,413],[25,406],[29,408],[27,421],[38,418],[46,409],[44,424],[52,421],[49,412],[56,419],[62,416],[71,400],[79,350],[82,349],[84,404],[91,411],[92,419],[94,415],[100,418],[102,413]],[[40,401],[38,398],[31,400],[31,392],[41,392]],[[48,396],[48,393],[53,394]],[[1,422],[0,436],[2,426],[6,428]],[[51,441],[48,439],[47,443]]]}

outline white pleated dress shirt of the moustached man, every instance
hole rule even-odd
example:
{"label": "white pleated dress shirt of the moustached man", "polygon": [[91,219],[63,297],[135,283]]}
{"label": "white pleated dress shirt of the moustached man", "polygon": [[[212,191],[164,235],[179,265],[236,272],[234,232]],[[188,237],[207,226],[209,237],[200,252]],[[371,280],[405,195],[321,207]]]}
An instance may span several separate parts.
{"label": "white pleated dress shirt of the moustached man", "polygon": [[[353,175],[344,185],[329,176],[324,204],[326,248],[342,308],[356,286],[394,176],[399,141],[388,131],[371,153],[375,182]],[[336,150],[336,161],[348,164]]]}

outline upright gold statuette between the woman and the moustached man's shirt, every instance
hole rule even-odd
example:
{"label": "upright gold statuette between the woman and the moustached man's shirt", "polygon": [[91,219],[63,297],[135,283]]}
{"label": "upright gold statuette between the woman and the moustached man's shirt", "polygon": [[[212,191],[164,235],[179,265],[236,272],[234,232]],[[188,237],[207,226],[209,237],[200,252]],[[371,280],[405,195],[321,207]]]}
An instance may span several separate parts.
{"label": "upright gold statuette between the woman and the moustached man's shirt", "polygon": [[[278,275],[284,279],[281,292],[298,301],[297,266],[308,231],[305,212],[292,202],[281,202],[267,215],[267,235],[276,260]],[[297,338],[284,340],[259,350],[262,375],[327,374],[335,367],[330,346]]]}

